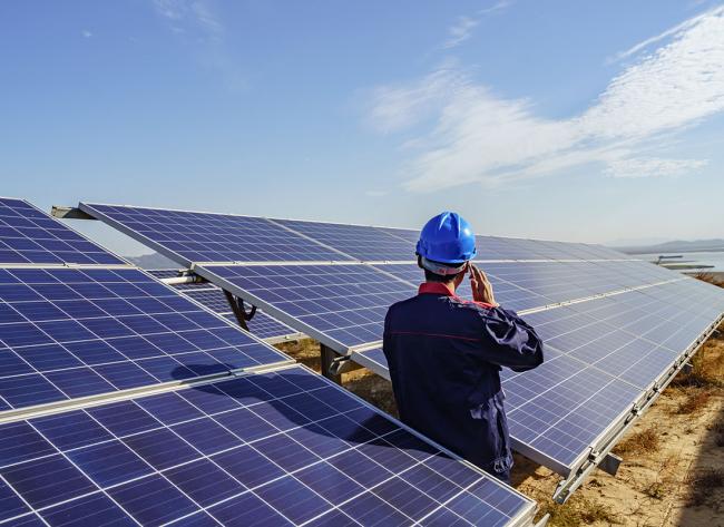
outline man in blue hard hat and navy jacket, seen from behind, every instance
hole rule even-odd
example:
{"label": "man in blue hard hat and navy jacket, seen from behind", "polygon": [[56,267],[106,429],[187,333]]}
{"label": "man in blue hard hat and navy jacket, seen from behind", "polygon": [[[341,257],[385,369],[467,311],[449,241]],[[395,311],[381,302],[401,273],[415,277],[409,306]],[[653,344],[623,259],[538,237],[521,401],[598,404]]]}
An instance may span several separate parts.
{"label": "man in blue hard hat and navy jacket, seen from behind", "polygon": [[[500,387],[501,367],[542,363],[542,342],[513,311],[496,303],[492,286],[470,260],[468,222],[444,212],[422,228],[417,247],[425,282],[384,321],[384,354],[403,422],[483,470],[510,482],[512,456]],[[456,290],[470,274],[473,302]]]}

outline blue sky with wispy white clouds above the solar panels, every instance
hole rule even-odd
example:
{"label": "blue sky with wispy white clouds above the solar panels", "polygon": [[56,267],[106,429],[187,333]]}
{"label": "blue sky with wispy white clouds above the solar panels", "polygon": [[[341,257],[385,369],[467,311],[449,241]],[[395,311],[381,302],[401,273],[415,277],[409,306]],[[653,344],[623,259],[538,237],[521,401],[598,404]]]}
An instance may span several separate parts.
{"label": "blue sky with wispy white clouds above the solar panels", "polygon": [[721,2],[2,2],[0,78],[46,209],[724,237]]}

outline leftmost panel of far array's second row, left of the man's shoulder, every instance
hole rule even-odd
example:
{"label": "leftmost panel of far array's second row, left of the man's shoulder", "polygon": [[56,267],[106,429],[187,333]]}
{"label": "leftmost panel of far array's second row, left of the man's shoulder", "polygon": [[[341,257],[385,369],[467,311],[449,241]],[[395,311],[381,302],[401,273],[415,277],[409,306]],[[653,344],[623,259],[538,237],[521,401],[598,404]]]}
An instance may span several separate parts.
{"label": "leftmost panel of far array's second row, left of the man's shoulder", "polygon": [[196,272],[337,351],[380,340],[388,308],[415,292],[364,264],[204,265]]}

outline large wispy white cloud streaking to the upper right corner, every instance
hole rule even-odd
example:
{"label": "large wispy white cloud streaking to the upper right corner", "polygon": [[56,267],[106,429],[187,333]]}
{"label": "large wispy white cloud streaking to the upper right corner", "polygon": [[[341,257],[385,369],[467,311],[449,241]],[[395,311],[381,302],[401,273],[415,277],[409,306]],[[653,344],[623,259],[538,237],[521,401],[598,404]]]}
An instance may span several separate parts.
{"label": "large wispy white cloud streaking to the upper right corner", "polygon": [[567,119],[540,117],[531,101],[502,98],[449,65],[378,88],[371,119],[387,133],[432,121],[428,133],[404,138],[417,153],[405,166],[411,191],[498,186],[591,163],[615,177],[683,174],[706,162],[661,153],[668,137],[724,110],[724,10],[667,33],[668,43],[638,56]]}

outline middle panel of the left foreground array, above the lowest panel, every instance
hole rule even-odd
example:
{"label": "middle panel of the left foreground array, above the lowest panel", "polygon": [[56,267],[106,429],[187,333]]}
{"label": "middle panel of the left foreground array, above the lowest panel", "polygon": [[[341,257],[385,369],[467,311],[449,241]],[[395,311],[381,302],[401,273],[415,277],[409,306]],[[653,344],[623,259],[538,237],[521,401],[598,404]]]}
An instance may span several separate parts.
{"label": "middle panel of the left foreground array, above the lowest panel", "polygon": [[0,408],[287,361],[135,269],[0,270]]}

